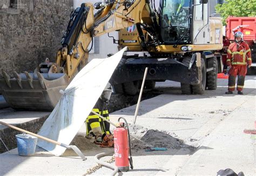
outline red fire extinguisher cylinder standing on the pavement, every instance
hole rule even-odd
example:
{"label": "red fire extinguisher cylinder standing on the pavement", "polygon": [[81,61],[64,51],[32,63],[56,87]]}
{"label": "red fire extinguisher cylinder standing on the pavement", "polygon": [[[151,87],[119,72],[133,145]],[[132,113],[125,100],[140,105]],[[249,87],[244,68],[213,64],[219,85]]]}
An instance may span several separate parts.
{"label": "red fire extinguisher cylinder standing on the pavement", "polygon": [[127,129],[117,127],[114,129],[114,158],[118,169],[122,172],[129,171],[129,147]]}

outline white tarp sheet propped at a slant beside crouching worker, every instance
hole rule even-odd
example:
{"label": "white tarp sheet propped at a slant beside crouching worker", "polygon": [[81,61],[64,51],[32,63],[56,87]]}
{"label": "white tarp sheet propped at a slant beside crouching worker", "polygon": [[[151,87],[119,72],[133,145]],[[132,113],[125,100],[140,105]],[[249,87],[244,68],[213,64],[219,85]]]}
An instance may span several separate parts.
{"label": "white tarp sheet propped at a slant beside crouching worker", "polygon": [[[66,87],[38,134],[69,145],[102,94],[125,50],[109,58],[92,59]],[[57,156],[66,150],[42,139],[38,139],[37,145]]]}

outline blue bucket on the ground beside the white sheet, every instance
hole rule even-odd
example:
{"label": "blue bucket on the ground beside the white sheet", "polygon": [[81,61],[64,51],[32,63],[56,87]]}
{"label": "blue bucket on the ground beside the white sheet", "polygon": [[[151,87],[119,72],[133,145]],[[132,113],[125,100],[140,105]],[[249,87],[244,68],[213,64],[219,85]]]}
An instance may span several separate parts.
{"label": "blue bucket on the ground beside the white sheet", "polygon": [[18,155],[20,156],[32,156],[35,154],[37,137],[31,136],[30,134],[17,134],[17,147]]}

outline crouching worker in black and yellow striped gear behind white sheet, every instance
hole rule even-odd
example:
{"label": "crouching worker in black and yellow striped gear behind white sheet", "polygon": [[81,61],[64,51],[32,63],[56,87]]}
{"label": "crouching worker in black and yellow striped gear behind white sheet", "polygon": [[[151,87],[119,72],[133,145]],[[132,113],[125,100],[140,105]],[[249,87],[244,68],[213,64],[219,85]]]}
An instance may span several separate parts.
{"label": "crouching worker in black and yellow striped gear behind white sheet", "polygon": [[[111,85],[108,83],[92,111],[109,120],[109,111],[106,104],[109,103],[112,93]],[[100,147],[113,147],[113,135],[110,132],[110,124],[92,112],[86,119],[86,136],[95,139],[95,144]]]}

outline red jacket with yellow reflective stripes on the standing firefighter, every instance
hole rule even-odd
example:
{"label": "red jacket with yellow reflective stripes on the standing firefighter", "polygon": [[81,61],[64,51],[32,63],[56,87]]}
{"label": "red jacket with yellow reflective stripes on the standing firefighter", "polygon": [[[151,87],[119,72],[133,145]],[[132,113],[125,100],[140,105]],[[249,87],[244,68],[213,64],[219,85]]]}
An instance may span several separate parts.
{"label": "red jacket with yellow reflective stripes on the standing firefighter", "polygon": [[232,43],[227,50],[227,65],[251,65],[251,49],[246,42]]}

